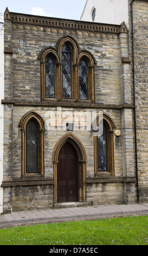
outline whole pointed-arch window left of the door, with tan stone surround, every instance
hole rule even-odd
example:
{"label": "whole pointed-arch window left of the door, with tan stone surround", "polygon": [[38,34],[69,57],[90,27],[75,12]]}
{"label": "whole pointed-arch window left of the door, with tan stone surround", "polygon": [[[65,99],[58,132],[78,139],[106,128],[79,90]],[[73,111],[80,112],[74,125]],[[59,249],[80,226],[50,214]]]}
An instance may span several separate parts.
{"label": "whole pointed-arch window left of the door, with tan stone surround", "polygon": [[19,126],[22,131],[22,178],[43,177],[44,120],[41,115],[29,111],[22,117]]}

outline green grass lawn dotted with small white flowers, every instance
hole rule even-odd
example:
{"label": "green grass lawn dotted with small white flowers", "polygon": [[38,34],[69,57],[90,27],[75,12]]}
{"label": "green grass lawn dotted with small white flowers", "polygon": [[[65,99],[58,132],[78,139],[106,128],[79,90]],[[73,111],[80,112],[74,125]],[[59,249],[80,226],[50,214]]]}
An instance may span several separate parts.
{"label": "green grass lawn dotted with small white flowers", "polygon": [[0,245],[148,245],[148,216],[4,228]]}

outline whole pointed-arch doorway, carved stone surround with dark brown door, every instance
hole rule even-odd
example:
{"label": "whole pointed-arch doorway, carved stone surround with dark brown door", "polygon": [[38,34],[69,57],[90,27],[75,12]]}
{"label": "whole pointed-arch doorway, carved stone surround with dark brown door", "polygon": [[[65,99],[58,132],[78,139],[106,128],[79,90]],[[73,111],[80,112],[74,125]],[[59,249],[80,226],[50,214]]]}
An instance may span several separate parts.
{"label": "whole pointed-arch doorway, carved stone surround with dark brown door", "polygon": [[[67,151],[67,153],[65,153],[65,150],[68,150],[69,148],[69,153]],[[74,172],[78,173],[78,180],[76,180],[76,176],[75,176],[75,181],[73,184],[73,188],[72,188],[72,183],[70,185],[70,177],[68,178],[68,180],[65,180],[65,184],[63,182],[63,191],[69,190],[69,196],[66,197],[61,197],[62,202],[86,202],[86,192],[85,192],[85,180],[86,180],[86,163],[87,163],[87,156],[86,156],[86,151],[85,148],[83,147],[82,143],[80,142],[80,140],[73,135],[73,133],[67,133],[65,136],[61,137],[61,139],[56,143],[54,150],[53,150],[53,156],[52,156],[52,162],[53,162],[53,168],[54,168],[54,203],[59,202],[59,181],[60,181],[60,177],[57,176],[59,174],[57,174],[57,171],[59,172],[61,169],[60,164],[61,164],[61,160],[62,159],[66,159],[66,157],[68,156],[68,160],[67,163],[63,164],[72,164],[74,163],[74,161],[76,161],[75,163],[78,167],[78,170],[76,170],[76,166],[74,167],[75,170],[73,169],[73,167],[71,166],[71,170],[70,172]],[[71,158],[71,162],[70,162],[70,158]],[[65,160],[66,161],[66,160]],[[63,169],[65,169],[65,167],[62,167]],[[67,174],[67,171],[66,171]],[[72,175],[72,173],[70,174]],[[62,180],[61,180],[62,181]],[[68,185],[69,182],[69,185]],[[66,184],[67,183],[67,184]],[[65,187],[67,186],[67,188]],[[78,186],[76,188],[76,186]],[[60,188],[61,190],[62,188]],[[74,195],[74,191],[77,189],[77,192],[75,192]],[[65,192],[63,192],[65,193]],[[70,194],[72,197],[70,197]]]}

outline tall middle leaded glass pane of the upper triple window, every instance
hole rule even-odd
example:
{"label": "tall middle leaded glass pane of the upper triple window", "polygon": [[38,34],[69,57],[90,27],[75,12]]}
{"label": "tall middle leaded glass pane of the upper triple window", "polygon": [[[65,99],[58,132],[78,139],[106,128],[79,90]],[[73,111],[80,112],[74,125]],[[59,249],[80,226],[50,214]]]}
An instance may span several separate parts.
{"label": "tall middle leaded glass pane of the upper triple window", "polygon": [[63,99],[72,99],[72,83],[71,83],[71,49],[69,45],[62,48],[62,85]]}

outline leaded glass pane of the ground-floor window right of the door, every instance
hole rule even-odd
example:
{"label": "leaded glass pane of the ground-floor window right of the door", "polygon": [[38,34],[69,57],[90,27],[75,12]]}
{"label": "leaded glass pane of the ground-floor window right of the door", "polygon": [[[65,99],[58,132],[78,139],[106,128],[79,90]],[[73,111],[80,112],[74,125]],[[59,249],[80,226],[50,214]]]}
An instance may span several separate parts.
{"label": "leaded glass pane of the ground-floor window right of the door", "polygon": [[103,134],[98,136],[98,171],[107,172],[107,134],[106,127],[103,126]]}

